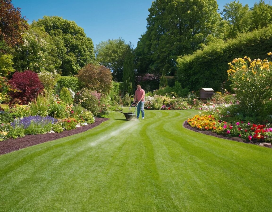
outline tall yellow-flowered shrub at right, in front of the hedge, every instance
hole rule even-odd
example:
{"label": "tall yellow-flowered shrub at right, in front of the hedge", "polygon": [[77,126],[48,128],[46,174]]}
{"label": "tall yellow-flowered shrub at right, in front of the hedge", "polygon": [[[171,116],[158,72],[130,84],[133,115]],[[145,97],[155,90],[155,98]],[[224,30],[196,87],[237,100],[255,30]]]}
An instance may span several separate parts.
{"label": "tall yellow-flowered shrub at right, in front of the hedge", "polygon": [[249,116],[262,114],[264,104],[269,101],[272,93],[272,62],[267,59],[251,60],[245,56],[234,59],[229,66],[228,78],[241,110]]}

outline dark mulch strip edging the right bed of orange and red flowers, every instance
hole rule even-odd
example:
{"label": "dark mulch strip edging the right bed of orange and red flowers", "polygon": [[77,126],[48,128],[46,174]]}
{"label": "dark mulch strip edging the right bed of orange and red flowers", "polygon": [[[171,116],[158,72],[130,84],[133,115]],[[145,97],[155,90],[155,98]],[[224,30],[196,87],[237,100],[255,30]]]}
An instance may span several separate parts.
{"label": "dark mulch strip edging the right bed of orange and red flowers", "polygon": [[[228,140],[232,140],[232,141],[238,141],[238,142],[247,143],[247,144],[260,145],[260,142],[246,141],[243,138],[239,138],[239,137],[225,137],[223,135],[218,135],[215,132],[212,132],[212,131],[209,131],[209,130],[200,130],[200,129],[197,129],[197,128],[193,128],[188,124],[187,121],[185,121],[183,123],[183,126],[185,128],[187,128],[187,129],[192,130],[192,131],[199,132],[199,133],[202,133],[202,134],[205,134],[205,135],[211,135],[211,136],[214,136],[214,137],[217,137],[217,138],[224,138],[224,139],[228,139]],[[262,146],[272,148],[271,145],[266,145],[265,143],[263,143]]]}

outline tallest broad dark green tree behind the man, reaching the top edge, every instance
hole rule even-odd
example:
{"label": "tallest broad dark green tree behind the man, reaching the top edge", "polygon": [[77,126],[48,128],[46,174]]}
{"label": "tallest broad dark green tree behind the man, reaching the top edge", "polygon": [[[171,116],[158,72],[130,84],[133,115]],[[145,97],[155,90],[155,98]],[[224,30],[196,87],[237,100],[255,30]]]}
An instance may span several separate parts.
{"label": "tallest broad dark green tree behind the man, reaching the top edge", "polygon": [[200,49],[216,32],[217,9],[216,0],[153,1],[135,50],[137,72],[174,75],[177,56]]}

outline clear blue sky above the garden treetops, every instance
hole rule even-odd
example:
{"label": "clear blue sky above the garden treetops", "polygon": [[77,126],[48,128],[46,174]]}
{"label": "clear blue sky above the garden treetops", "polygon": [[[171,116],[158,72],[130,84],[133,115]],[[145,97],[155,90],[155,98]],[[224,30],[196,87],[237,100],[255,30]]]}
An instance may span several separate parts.
{"label": "clear blue sky above the garden treetops", "polygon": [[[230,2],[218,0],[220,11]],[[239,2],[252,7],[259,0]],[[146,31],[152,0],[12,0],[12,3],[14,7],[21,8],[21,14],[29,19],[29,23],[43,16],[60,16],[82,27],[94,46],[101,41],[121,37],[136,47]],[[265,3],[269,4],[270,0],[265,0]]]}

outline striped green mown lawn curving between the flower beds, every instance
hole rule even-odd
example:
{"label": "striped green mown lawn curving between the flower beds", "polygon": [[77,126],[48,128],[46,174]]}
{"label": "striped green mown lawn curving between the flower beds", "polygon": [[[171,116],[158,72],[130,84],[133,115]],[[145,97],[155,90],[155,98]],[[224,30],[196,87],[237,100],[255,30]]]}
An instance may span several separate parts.
{"label": "striped green mown lawn curving between the flower beds", "polygon": [[0,211],[271,211],[272,149],[145,111],[0,156]]}

